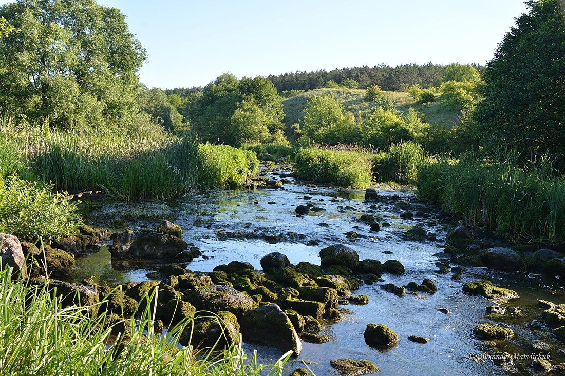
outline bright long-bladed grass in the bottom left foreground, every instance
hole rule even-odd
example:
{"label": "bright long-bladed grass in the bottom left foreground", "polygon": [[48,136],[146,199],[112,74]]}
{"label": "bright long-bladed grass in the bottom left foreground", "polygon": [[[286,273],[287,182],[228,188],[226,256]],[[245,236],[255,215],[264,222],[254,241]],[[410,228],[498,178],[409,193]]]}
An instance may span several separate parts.
{"label": "bright long-bladed grass in the bottom left foreground", "polygon": [[[219,353],[179,348],[176,343],[192,320],[159,334],[153,304],[138,308],[136,317],[108,325],[105,313],[93,316],[92,307],[64,307],[62,298],[47,282],[14,282],[11,269],[0,271],[2,375],[282,375],[290,356],[264,366],[258,364],[257,353],[247,358],[236,345]],[[147,299],[156,301],[154,296]],[[122,325],[125,331],[114,338],[113,330]]]}

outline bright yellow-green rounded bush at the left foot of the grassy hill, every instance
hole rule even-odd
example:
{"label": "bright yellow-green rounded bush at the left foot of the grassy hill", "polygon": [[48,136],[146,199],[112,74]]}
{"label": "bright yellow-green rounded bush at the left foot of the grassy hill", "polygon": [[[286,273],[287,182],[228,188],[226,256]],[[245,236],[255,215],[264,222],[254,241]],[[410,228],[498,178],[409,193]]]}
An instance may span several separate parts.
{"label": "bright yellow-green rounded bush at the left foot of the grassy hill", "polygon": [[336,97],[319,95],[307,101],[302,134],[329,145],[354,143],[359,139],[359,127],[353,114],[344,112],[344,107]]}

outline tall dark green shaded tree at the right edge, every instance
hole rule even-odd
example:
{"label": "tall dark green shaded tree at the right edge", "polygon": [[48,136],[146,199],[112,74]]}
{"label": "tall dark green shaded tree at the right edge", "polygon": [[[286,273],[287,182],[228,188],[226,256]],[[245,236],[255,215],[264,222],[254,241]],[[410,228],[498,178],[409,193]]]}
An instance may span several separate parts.
{"label": "tall dark green shaded tree at the right edge", "polygon": [[[565,145],[565,6],[528,1],[484,72],[475,121],[486,146],[563,153]],[[560,163],[565,165],[565,159]]]}

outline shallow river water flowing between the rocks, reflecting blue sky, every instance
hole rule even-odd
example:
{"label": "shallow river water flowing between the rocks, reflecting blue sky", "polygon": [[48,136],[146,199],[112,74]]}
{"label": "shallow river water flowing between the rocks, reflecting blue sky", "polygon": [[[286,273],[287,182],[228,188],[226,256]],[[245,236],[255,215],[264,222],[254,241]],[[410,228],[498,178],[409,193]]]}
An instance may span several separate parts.
{"label": "shallow river water flowing between the rocks, reflecting blue sky", "polygon": [[[288,168],[287,168],[288,169]],[[283,172],[283,168],[279,169]],[[285,171],[289,173],[290,171]],[[276,177],[270,170],[269,177]],[[405,266],[406,273],[394,276],[385,273],[375,285],[363,285],[354,294],[365,294],[370,303],[364,306],[347,305],[352,311],[344,320],[327,325],[322,334],[332,337],[331,342],[311,344],[303,342],[301,355],[286,366],[288,371],[303,364],[318,375],[332,371],[329,361],[335,358],[371,360],[383,375],[503,375],[507,373],[534,374],[527,360],[516,361],[512,369],[503,369],[492,360],[480,360],[483,353],[506,351],[520,355],[533,355],[540,351],[532,347],[545,342],[551,347],[553,364],[565,362],[563,343],[553,338],[542,323],[542,309],[536,307],[537,299],[565,303],[563,281],[544,278],[537,274],[495,272],[485,268],[467,268],[462,282],[451,280],[451,273],[436,274],[436,262],[445,246],[446,230],[457,223],[453,218],[442,216],[438,208],[428,206],[416,199],[412,191],[379,191],[380,199],[364,200],[364,192],[339,190],[331,187],[309,187],[289,178],[283,189],[249,191],[219,191],[192,196],[175,203],[115,203],[103,207],[92,215],[93,221],[123,217],[124,213],[162,211],[175,218],[175,223],[185,229],[185,241],[193,243],[203,252],[188,264],[190,270],[211,271],[214,266],[232,260],[249,261],[261,269],[260,258],[267,253],[284,253],[293,264],[309,261],[319,264],[321,248],[342,243],[354,248],[360,259],[385,261],[397,259]],[[294,208],[299,204],[314,204],[325,211],[310,212],[297,217]],[[410,211],[418,213],[412,219],[401,219],[400,215]],[[371,232],[368,225],[359,222],[363,213],[380,217],[378,232]],[[148,216],[138,215],[138,217]],[[133,220],[129,215],[130,228],[155,226],[156,221]],[[320,225],[327,224],[327,226]],[[406,241],[402,234],[412,226],[420,226],[435,235],[437,241]],[[347,239],[347,231],[356,231],[357,239]],[[283,241],[270,244],[264,235],[281,235]],[[433,235],[431,238],[433,238]],[[384,251],[393,252],[385,254]],[[112,261],[110,252],[103,247],[92,255],[77,257],[77,269],[71,278],[94,277],[109,285],[127,281],[141,281],[155,272],[160,264],[147,261],[131,263]],[[381,290],[379,285],[394,283],[397,286],[415,281],[421,283],[431,278],[438,288],[434,295],[410,295],[398,298]],[[506,321],[516,335],[506,341],[484,343],[477,340],[473,327],[485,318],[487,305],[492,305],[481,296],[463,294],[465,282],[490,279],[494,285],[512,288],[520,299],[510,306],[518,306],[525,316]],[[447,308],[452,313],[444,314],[437,308]],[[367,346],[363,332],[367,323],[383,323],[398,334],[398,343],[393,348],[380,351]],[[410,342],[407,337],[420,335],[431,338],[427,344]],[[275,361],[281,353],[276,349],[245,344],[247,351],[258,349],[263,362]]]}

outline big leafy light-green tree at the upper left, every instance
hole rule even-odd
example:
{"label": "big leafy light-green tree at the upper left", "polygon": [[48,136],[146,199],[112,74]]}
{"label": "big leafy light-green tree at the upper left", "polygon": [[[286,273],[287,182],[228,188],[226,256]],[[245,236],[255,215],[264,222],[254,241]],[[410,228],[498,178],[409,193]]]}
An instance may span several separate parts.
{"label": "big leafy light-green tree at the upper left", "polygon": [[0,40],[0,107],[52,128],[124,125],[136,113],[145,50],[116,8],[94,0],[19,0]]}

